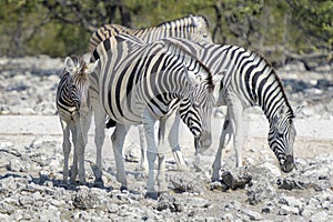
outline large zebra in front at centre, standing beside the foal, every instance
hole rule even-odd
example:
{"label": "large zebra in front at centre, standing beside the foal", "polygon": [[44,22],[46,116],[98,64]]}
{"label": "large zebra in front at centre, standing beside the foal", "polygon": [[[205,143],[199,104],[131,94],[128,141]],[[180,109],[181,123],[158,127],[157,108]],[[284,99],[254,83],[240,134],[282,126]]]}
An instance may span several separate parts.
{"label": "large zebra in front at centre, standing beside the foal", "polygon": [[[100,63],[91,75],[90,89],[99,97],[99,109],[117,122],[111,137],[117,180],[127,188],[122,158],[124,138],[130,125],[143,124],[148,142],[148,195],[155,198],[154,161],[158,158],[159,191],[165,191],[164,152],[169,142],[172,143],[170,132],[178,110],[194,135],[196,151],[210,147],[214,82],[221,81],[223,72],[212,75],[200,60],[173,42],[142,44],[131,36],[104,40],[91,58],[91,61],[97,60]],[[154,123],[158,120],[160,141],[157,147]]]}

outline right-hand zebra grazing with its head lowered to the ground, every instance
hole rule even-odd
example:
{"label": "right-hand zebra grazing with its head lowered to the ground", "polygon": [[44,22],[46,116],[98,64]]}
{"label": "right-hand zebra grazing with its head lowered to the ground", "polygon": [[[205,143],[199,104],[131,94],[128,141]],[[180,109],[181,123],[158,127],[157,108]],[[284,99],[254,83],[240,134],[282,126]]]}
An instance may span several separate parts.
{"label": "right-hand zebra grazing with its head lowered to the ground", "polygon": [[[270,123],[268,141],[279,160],[281,170],[292,171],[295,167],[294,113],[272,65],[256,52],[238,46],[199,43],[178,38],[168,38],[168,40],[195,54],[212,73],[228,70],[219,85],[220,94],[215,103],[216,107],[226,105],[228,112],[213,163],[212,180],[219,180],[222,149],[229,143],[231,135],[233,135],[236,167],[242,165],[242,113],[246,108],[254,105],[261,107]],[[229,135],[228,141],[226,135]]]}

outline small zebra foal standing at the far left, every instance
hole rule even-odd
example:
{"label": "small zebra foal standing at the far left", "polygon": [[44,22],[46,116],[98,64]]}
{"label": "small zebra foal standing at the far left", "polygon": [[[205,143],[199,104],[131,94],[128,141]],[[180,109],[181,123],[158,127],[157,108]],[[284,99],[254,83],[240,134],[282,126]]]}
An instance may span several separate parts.
{"label": "small zebra foal standing at the far left", "polygon": [[[84,183],[85,181],[84,145],[87,142],[88,129],[81,129],[81,125],[87,125],[87,123],[80,123],[80,115],[85,114],[89,111],[88,89],[90,87],[90,79],[88,75],[93,72],[98,62],[85,63],[80,57],[65,58],[63,75],[58,85],[56,105],[63,132],[63,183],[65,184],[68,183],[69,176],[68,162],[71,151],[70,133],[72,133],[72,142],[74,144],[73,168],[70,180],[73,182],[77,178],[79,161],[80,183]],[[89,118],[87,118],[87,120],[90,121]]]}

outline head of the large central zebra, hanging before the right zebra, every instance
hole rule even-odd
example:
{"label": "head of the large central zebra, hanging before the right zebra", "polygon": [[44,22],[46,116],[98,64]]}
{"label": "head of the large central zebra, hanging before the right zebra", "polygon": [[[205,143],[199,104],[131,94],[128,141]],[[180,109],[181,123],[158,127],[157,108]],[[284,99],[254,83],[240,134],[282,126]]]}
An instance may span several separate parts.
{"label": "head of the large central zebra, hanging before the right zebra", "polygon": [[209,75],[202,79],[201,74],[195,74],[195,84],[190,92],[191,100],[183,100],[180,105],[180,115],[194,135],[195,152],[203,152],[212,143],[211,137],[211,114],[215,103],[214,87],[221,82],[225,72]]}

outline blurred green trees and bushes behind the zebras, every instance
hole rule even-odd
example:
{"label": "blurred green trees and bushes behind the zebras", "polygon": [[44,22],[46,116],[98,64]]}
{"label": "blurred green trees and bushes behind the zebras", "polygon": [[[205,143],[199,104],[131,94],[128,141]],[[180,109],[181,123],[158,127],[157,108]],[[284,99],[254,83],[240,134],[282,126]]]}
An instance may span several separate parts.
{"label": "blurred green trees and bushes behind the zebras", "polygon": [[0,11],[2,57],[82,54],[102,24],[145,28],[202,14],[214,42],[255,50],[275,67],[332,63],[332,0],[0,0]]}

